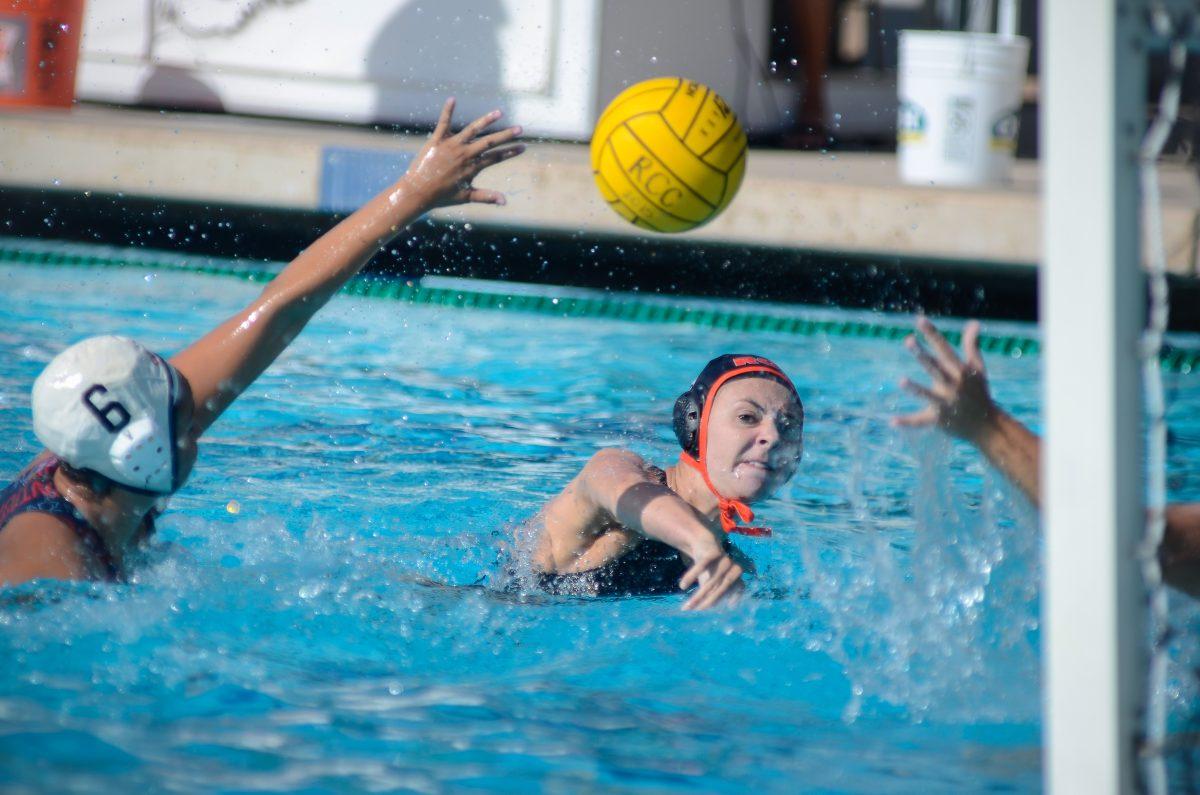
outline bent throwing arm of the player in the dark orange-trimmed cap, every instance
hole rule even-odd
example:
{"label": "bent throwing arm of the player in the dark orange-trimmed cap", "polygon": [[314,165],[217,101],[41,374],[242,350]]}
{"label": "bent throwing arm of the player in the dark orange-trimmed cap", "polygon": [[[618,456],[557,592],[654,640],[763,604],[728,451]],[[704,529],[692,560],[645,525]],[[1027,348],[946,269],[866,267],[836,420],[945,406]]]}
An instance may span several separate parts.
{"label": "bent throwing arm of the player in the dark orange-trimmed cap", "polygon": [[704,516],[650,476],[646,461],[629,450],[604,449],[577,478],[582,497],[617,524],[683,552],[691,561],[679,587],[700,582],[685,610],[712,606],[742,587],[743,568],[725,551]]}

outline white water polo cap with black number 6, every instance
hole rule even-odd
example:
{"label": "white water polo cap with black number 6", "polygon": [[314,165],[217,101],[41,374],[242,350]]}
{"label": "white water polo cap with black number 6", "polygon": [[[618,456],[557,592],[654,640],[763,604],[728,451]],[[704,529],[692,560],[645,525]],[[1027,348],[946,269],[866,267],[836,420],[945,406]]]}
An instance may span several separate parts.
{"label": "white water polo cap with black number 6", "polygon": [[124,486],[170,494],[179,484],[179,373],[121,336],[94,336],[54,357],[34,382],[34,432],[78,470]]}

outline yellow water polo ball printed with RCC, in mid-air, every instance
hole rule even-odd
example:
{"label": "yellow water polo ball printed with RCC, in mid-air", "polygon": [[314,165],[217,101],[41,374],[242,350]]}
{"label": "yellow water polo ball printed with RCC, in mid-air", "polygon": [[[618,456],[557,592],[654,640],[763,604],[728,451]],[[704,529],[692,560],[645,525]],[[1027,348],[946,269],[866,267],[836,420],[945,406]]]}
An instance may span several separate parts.
{"label": "yellow water polo ball printed with RCC, in mid-air", "polygon": [[707,85],[659,77],[617,95],[592,135],[600,195],[634,226],[685,232],[728,205],[746,168],[746,133]]}

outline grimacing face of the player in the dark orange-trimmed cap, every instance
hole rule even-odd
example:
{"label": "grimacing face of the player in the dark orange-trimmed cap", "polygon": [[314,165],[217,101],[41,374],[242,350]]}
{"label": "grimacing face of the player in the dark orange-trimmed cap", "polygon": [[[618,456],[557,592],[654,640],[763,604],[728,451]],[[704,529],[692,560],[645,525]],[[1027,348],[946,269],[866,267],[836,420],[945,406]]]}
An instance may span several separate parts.
{"label": "grimacing face of the player in the dark orange-trimmed cap", "polygon": [[804,408],[774,378],[722,385],[708,416],[708,477],[734,500],[763,500],[787,483],[804,453]]}

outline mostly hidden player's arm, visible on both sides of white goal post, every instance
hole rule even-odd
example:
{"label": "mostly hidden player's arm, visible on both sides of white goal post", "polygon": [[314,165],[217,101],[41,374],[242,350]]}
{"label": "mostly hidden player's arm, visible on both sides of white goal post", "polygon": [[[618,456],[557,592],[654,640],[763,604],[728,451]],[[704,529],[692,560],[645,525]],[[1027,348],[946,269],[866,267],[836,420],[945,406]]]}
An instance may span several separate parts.
{"label": "mostly hidden player's arm, visible on both sides of white goal post", "polygon": [[[928,405],[894,418],[893,424],[937,426],[971,442],[1040,507],[1042,440],[991,399],[979,352],[979,323],[972,321],[962,330],[965,359],[928,318],[917,321],[917,329],[929,347],[916,335],[908,336],[905,346],[932,381],[929,387],[908,378],[901,384]],[[1165,518],[1166,530],[1158,549],[1163,578],[1169,585],[1200,597],[1200,503],[1168,506]]]}

